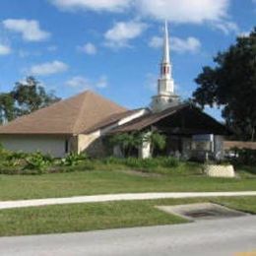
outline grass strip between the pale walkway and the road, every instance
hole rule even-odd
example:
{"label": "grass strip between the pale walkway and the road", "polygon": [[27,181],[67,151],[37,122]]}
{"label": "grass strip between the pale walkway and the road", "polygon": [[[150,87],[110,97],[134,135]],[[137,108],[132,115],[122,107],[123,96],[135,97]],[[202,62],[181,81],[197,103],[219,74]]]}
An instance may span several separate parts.
{"label": "grass strip between the pale walkway and the road", "polygon": [[12,209],[0,211],[0,236],[182,224],[187,221],[163,213],[154,206],[198,202],[217,202],[256,214],[256,197],[164,199]]}

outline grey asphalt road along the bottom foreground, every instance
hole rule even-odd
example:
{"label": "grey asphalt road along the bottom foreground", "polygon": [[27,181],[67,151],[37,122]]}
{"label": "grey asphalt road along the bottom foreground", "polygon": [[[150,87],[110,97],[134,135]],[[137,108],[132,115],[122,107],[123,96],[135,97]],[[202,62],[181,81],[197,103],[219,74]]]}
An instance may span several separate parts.
{"label": "grey asphalt road along the bottom foreground", "polygon": [[233,256],[242,255],[239,254],[242,252],[255,252],[256,255],[255,216],[192,224],[0,238],[1,256]]}

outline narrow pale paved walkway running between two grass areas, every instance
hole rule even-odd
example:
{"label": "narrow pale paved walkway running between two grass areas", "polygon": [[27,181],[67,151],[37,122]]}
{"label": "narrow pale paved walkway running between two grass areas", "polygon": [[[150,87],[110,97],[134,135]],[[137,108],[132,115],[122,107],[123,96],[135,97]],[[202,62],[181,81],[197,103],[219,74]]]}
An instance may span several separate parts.
{"label": "narrow pale paved walkway running between two grass areas", "polygon": [[0,210],[36,206],[64,205],[78,203],[98,203],[124,200],[150,200],[163,198],[196,198],[196,197],[237,197],[256,196],[256,191],[242,192],[172,192],[172,193],[134,193],[134,194],[112,194],[96,196],[79,196],[68,198],[32,199],[20,201],[0,201]]}

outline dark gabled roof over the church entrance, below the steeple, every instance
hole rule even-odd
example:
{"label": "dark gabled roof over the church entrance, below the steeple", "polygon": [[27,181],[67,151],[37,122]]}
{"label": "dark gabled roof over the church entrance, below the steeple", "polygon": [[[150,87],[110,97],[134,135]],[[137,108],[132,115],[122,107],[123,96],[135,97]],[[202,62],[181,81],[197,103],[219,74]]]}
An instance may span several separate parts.
{"label": "dark gabled roof over the church entrance, below the steeple", "polygon": [[223,124],[187,103],[134,119],[130,123],[113,129],[109,134],[142,131],[151,126],[171,134],[231,134]]}

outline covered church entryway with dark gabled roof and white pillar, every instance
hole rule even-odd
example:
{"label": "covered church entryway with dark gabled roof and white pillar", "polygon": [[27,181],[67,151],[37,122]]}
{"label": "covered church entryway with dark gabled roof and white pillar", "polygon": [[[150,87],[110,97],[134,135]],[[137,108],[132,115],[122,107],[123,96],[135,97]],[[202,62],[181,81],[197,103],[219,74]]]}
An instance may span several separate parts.
{"label": "covered church entryway with dark gabled roof and white pillar", "polygon": [[[149,113],[122,125],[111,134],[158,131],[166,136],[167,156],[222,158],[223,137],[230,131],[220,122],[191,104],[179,104],[158,113]],[[149,157],[149,145],[142,147],[142,158]],[[202,156],[201,156],[202,155]]]}

